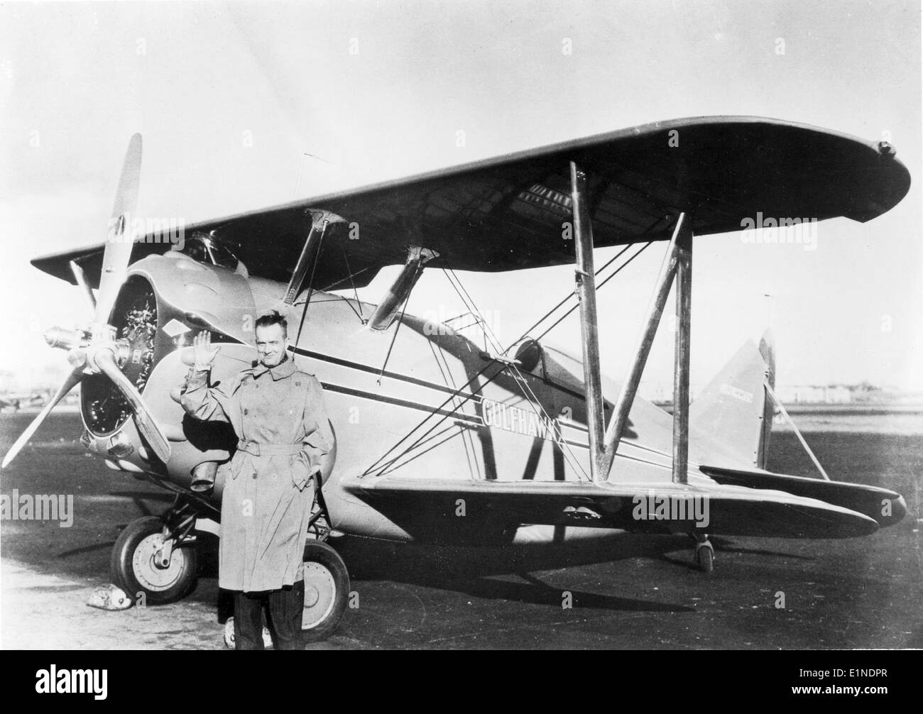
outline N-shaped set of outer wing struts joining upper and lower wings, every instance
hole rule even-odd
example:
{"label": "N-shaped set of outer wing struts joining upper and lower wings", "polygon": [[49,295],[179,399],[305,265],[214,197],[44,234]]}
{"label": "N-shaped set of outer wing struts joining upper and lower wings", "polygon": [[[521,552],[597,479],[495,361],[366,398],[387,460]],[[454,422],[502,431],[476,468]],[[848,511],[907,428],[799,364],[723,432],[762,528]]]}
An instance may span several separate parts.
{"label": "N-shaped set of outer wing struts joining upper and lower wings", "polygon": [[692,288],[692,231],[686,213],[680,213],[664,262],[654,286],[641,341],[629,374],[618,394],[615,409],[603,433],[602,377],[599,361],[599,327],[593,280],[593,229],[589,220],[586,175],[570,162],[570,196],[576,247],[576,293],[580,300],[583,375],[586,386],[587,430],[593,482],[606,481],[615,461],[618,443],[629,421],[641,374],[651,352],[660,317],[664,313],[674,278],[677,282],[677,339],[673,381],[673,481],[685,483],[689,466],[689,346]]}

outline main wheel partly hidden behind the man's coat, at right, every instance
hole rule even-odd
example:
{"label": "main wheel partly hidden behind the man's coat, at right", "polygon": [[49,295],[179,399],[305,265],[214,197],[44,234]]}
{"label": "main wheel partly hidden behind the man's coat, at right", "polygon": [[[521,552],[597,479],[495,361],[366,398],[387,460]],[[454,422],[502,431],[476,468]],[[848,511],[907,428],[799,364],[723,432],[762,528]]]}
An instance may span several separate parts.
{"label": "main wheel partly hidden behind the man's coat, at right", "polygon": [[349,572],[340,553],[327,543],[305,544],[305,609],[301,629],[306,642],[327,639],[340,624],[349,599]]}

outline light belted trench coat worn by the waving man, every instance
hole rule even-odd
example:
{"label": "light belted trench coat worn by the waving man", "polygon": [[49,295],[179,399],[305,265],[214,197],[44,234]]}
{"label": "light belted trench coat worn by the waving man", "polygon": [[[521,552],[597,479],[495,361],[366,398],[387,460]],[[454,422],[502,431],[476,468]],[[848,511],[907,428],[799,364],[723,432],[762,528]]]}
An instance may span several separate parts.
{"label": "light belted trench coat worn by the waving man", "polygon": [[209,386],[193,367],[181,404],[201,420],[230,422],[240,441],[224,471],[218,584],[257,592],[303,577],[314,480],[333,446],[323,390],[291,357]]}

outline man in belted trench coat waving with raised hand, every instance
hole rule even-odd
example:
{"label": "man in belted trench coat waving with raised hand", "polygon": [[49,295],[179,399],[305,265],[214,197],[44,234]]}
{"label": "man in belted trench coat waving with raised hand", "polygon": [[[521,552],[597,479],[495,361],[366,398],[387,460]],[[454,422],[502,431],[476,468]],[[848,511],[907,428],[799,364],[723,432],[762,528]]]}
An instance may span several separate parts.
{"label": "man in belted trench coat waving with raised hand", "polygon": [[258,363],[227,386],[209,386],[220,348],[194,340],[183,409],[230,422],[240,441],[224,473],[218,584],[234,590],[236,649],[263,649],[262,603],[269,601],[277,649],[300,649],[305,584],[302,559],[314,502],[314,475],[333,437],[320,383],[289,356],[287,325],[272,312],[256,322]]}

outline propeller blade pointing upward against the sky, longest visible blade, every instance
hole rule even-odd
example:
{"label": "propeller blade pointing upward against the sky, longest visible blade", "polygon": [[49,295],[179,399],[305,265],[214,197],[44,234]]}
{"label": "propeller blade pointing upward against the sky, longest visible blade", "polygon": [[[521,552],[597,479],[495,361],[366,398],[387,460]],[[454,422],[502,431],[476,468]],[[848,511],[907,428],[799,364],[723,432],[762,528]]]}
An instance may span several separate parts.
{"label": "propeller blade pointing upward against the sky, longest visible blade", "polygon": [[141,182],[141,135],[136,134],[128,142],[122,177],[115,191],[112,218],[106,235],[106,247],[102,253],[100,291],[96,301],[95,322],[108,324],[115,305],[119,288],[125,282],[134,235],[131,223],[135,208],[138,208],[138,186]]}

